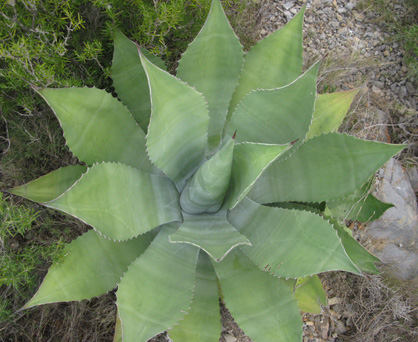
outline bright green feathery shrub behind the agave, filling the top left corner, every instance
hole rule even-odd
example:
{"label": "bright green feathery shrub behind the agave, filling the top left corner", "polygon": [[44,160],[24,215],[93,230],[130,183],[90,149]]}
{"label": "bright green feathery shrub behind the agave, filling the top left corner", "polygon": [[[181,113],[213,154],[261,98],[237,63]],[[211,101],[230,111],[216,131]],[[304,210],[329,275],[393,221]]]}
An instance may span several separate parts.
{"label": "bright green feathery shrub behind the agave, filling the top left corner", "polygon": [[[0,97],[3,113],[32,113],[30,85],[110,87],[115,28],[171,60],[197,33],[208,0],[4,1],[0,5]],[[178,31],[182,27],[184,30]],[[181,35],[181,36],[180,36]],[[170,50],[168,50],[170,46]]]}

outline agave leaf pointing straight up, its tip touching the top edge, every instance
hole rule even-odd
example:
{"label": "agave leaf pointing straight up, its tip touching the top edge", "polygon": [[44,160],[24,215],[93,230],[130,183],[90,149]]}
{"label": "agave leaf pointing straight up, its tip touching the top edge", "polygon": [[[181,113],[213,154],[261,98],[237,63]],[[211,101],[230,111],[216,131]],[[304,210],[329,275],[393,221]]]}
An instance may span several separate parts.
{"label": "agave leaf pointing straight up, its tip touching the top edge", "polygon": [[229,101],[238,85],[243,62],[242,46],[219,0],[205,25],[182,56],[177,77],[202,92],[209,104],[210,151],[220,144]]}

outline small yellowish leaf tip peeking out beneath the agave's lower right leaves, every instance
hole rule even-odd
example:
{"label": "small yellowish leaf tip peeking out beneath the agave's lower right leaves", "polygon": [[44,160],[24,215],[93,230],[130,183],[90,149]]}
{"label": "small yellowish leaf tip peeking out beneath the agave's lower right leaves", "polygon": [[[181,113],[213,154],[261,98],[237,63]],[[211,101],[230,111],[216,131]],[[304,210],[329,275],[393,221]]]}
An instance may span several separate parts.
{"label": "small yellowish leaf tip peeking out beneath the agave's lower right leaves", "polygon": [[322,312],[321,305],[327,305],[327,295],[317,275],[297,280],[295,298],[302,311],[312,314],[320,314]]}

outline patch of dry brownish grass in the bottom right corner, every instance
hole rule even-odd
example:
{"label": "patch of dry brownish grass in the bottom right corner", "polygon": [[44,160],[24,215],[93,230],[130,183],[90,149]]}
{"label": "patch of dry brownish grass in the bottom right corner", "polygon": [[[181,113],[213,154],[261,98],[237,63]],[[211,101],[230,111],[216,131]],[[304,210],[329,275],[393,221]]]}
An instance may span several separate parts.
{"label": "patch of dry brownish grass in the bottom right corner", "polygon": [[418,338],[418,292],[410,284],[390,286],[380,275],[357,276],[329,273],[323,276],[325,286],[343,299],[341,320],[353,328],[343,341],[396,342]]}

